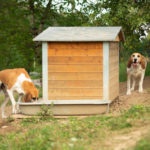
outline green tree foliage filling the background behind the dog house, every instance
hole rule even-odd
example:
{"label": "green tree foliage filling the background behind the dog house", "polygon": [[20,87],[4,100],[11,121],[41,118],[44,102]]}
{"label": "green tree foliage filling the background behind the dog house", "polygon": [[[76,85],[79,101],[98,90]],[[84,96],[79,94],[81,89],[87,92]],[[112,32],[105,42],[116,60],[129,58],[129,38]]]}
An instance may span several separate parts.
{"label": "green tree foliage filling the background behind the dog house", "polygon": [[41,43],[32,39],[48,26],[122,26],[123,62],[134,51],[150,56],[150,36],[139,40],[149,22],[148,1],[1,0],[0,70],[41,66]]}

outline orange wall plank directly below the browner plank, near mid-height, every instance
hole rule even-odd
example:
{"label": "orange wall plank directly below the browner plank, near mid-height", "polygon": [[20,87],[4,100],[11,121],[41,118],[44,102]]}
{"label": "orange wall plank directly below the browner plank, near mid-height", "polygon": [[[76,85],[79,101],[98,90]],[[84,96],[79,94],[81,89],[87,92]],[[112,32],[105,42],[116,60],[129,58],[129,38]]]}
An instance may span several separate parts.
{"label": "orange wall plank directly below the browner plank, near mid-height", "polygon": [[48,72],[101,72],[101,65],[48,65]]}

